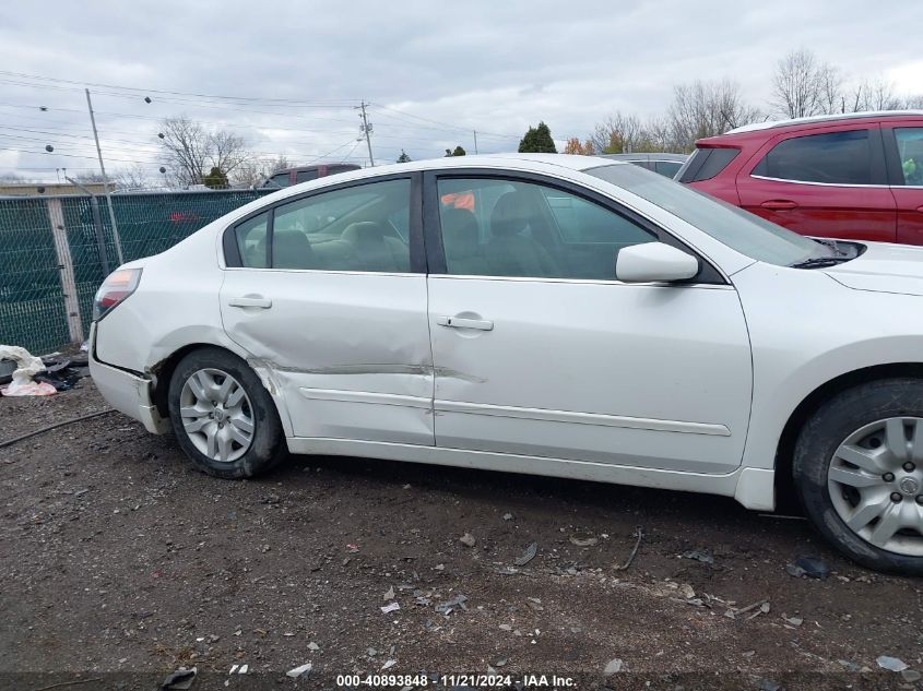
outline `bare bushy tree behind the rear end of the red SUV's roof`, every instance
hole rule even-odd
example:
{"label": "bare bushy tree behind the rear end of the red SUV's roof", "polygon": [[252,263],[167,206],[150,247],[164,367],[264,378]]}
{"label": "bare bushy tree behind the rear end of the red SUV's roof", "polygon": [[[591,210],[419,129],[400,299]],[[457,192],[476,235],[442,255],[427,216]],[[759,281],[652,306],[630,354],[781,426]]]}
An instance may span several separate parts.
{"label": "bare bushy tree behind the rear end of the red SUV's roof", "polygon": [[722,80],[674,86],[666,117],[672,147],[691,151],[697,139],[722,134],[761,116],[744,103],[739,84]]}

